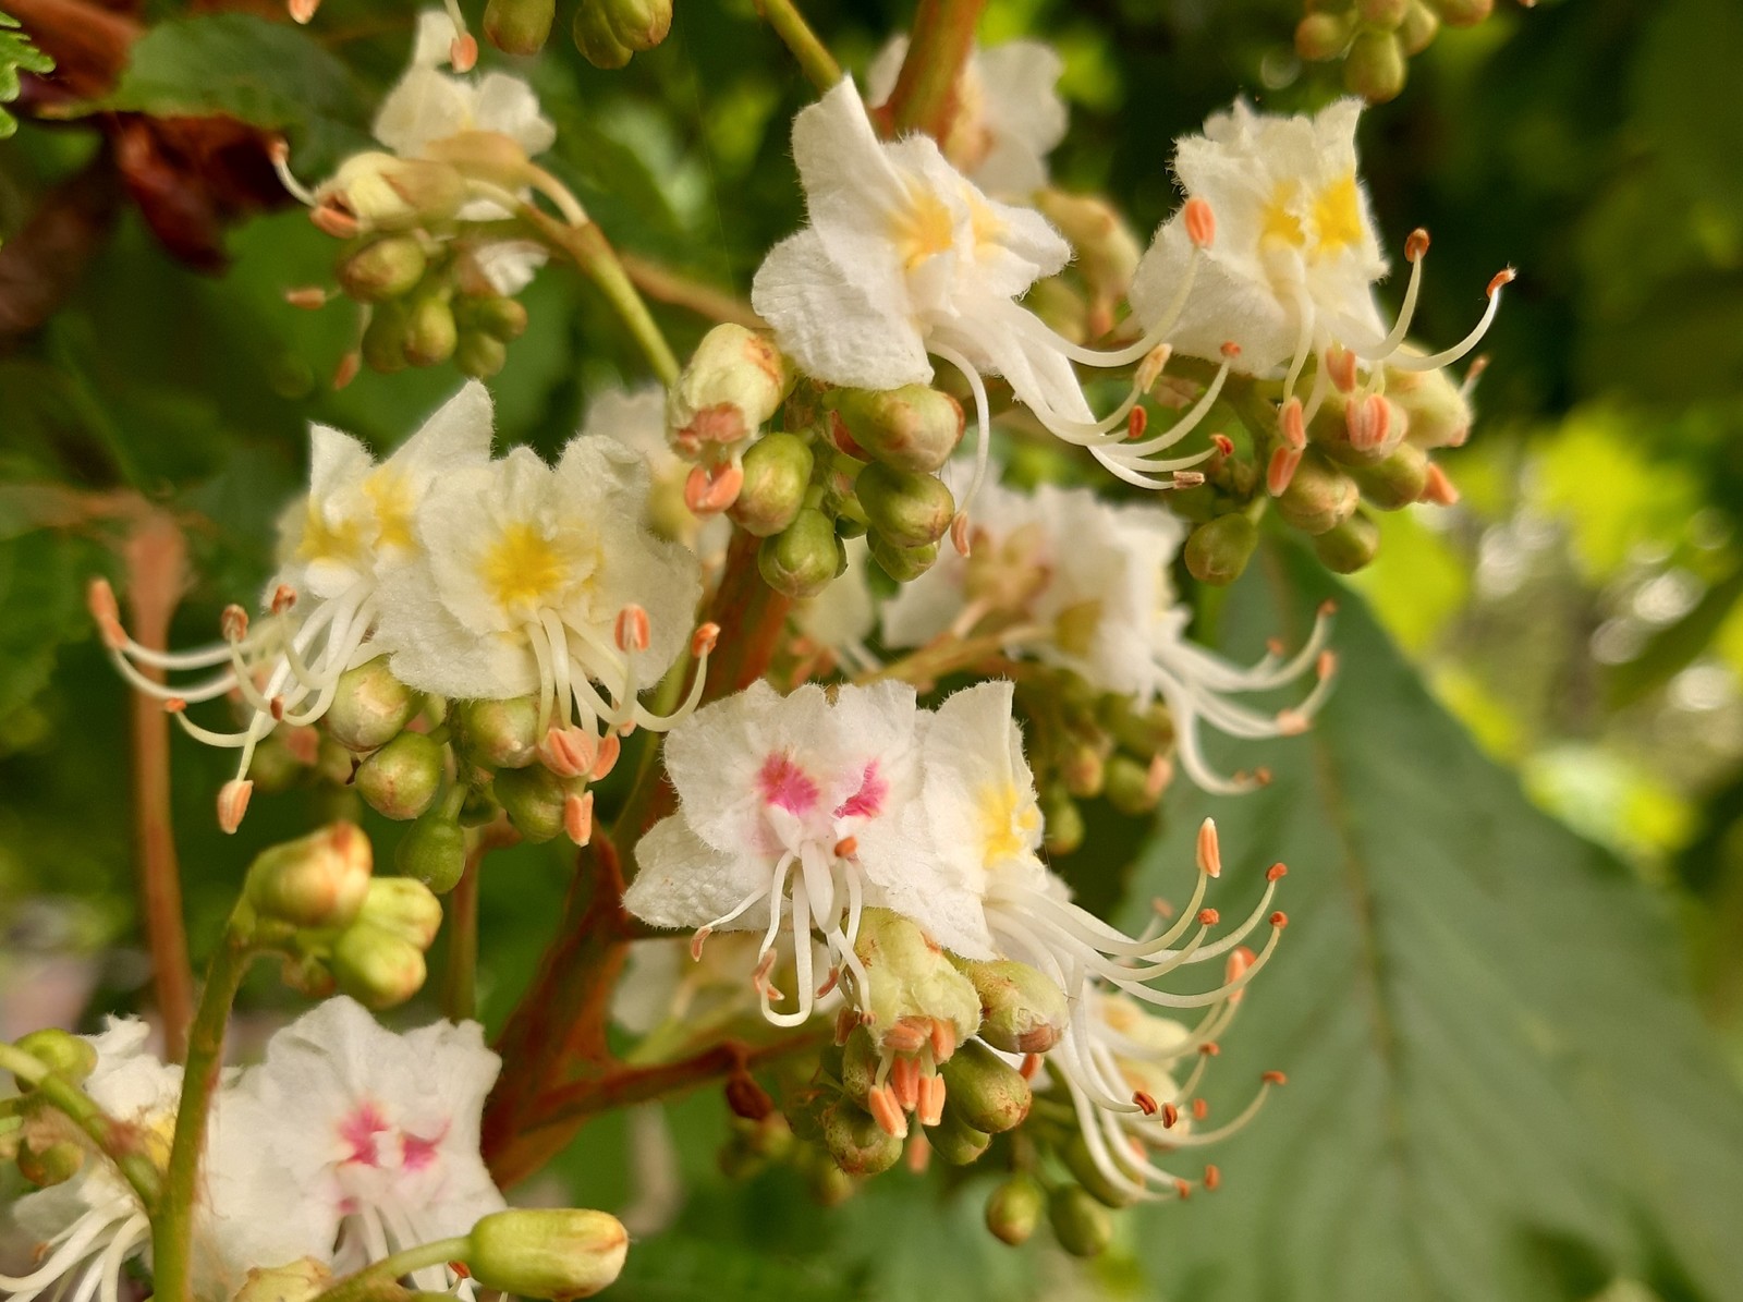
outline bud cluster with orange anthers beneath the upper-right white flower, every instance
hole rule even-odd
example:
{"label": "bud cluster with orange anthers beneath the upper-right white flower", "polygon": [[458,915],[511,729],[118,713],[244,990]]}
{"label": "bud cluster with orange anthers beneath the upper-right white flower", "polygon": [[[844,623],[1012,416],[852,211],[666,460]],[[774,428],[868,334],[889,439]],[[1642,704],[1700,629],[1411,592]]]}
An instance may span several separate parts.
{"label": "bud cluster with orange anthers beneath the upper-right white flower", "polygon": [[[1234,582],[1258,546],[1257,518],[1269,502],[1292,528],[1312,539],[1326,568],[1354,573],[1379,553],[1373,511],[1401,511],[1415,502],[1452,505],[1459,492],[1431,455],[1461,446],[1471,432],[1471,385],[1445,370],[1407,371],[1379,366],[1360,383],[1354,359],[1333,349],[1326,361],[1326,399],[1312,420],[1299,404],[1271,434],[1255,434],[1255,457],[1217,436],[1204,485],[1178,493],[1175,505],[1199,521],[1187,540],[1192,577]],[[1297,417],[1292,424],[1290,415]],[[1283,479],[1276,471],[1288,467]]]}

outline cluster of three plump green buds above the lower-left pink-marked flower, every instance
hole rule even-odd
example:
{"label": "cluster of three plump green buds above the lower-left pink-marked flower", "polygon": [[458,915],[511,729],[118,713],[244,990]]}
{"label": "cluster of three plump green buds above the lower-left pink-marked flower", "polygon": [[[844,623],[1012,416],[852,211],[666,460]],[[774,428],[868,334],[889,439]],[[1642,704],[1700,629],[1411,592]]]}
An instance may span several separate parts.
{"label": "cluster of three plump green buds above the lower-left pink-marked flower", "polygon": [[286,981],[305,993],[338,990],[383,1009],[424,988],[441,901],[411,877],[375,877],[370,838],[352,823],[261,852],[242,901],[253,943],[281,952]]}

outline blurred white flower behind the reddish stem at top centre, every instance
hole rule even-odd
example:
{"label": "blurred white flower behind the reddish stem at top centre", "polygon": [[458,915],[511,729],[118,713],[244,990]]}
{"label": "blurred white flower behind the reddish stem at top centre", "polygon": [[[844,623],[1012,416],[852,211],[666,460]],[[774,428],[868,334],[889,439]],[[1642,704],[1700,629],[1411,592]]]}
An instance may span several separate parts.
{"label": "blurred white flower behind the reddish stem at top centre", "polygon": [[[894,37],[866,68],[866,99],[889,101],[908,58]],[[957,113],[945,141],[950,159],[988,193],[1028,195],[1048,183],[1048,155],[1065,139],[1058,82],[1065,61],[1039,40],[976,45],[957,80]]]}

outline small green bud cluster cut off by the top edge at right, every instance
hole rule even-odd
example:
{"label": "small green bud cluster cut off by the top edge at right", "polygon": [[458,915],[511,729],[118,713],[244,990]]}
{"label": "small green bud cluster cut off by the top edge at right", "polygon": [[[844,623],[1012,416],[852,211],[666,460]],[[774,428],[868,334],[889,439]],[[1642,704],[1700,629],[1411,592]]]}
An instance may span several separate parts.
{"label": "small green bud cluster cut off by the top edge at right", "polygon": [[1344,85],[1379,105],[1405,89],[1410,56],[1426,51],[1441,24],[1476,26],[1494,9],[1495,0],[1307,0],[1295,52],[1316,63],[1342,59]]}

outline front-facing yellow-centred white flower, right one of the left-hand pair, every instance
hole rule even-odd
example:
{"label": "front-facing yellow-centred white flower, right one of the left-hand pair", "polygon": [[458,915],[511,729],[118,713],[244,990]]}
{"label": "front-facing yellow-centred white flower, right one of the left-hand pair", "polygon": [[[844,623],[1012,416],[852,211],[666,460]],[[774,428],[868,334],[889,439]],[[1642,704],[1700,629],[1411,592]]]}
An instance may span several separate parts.
{"label": "front-facing yellow-centred white flower, right one of the left-hand pair", "polygon": [[[701,671],[673,718],[636,701],[692,645],[701,598],[695,558],[645,528],[645,469],[598,437],[572,439],[556,467],[516,448],[446,476],[415,518],[418,563],[383,594],[394,676],[448,697],[537,694],[547,763],[565,756],[572,776],[610,767],[615,730],[685,716]],[[697,638],[706,655],[711,626]]]}

